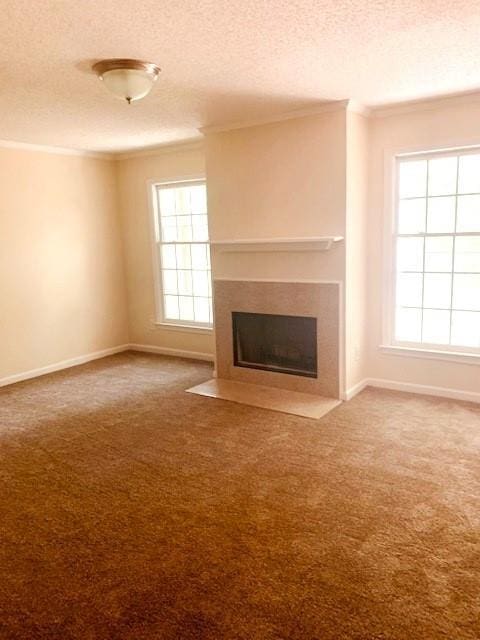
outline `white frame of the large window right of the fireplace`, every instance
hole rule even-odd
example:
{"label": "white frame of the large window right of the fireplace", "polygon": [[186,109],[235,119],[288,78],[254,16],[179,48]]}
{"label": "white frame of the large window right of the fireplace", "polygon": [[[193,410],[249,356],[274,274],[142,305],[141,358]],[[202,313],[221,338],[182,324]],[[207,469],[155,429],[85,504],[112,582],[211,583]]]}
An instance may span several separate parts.
{"label": "white frame of the large window right of the fireplace", "polygon": [[[480,348],[408,342],[395,339],[396,308],[396,242],[398,237],[398,176],[402,159],[422,160],[480,153],[476,144],[449,144],[429,150],[389,150],[385,152],[385,219],[384,219],[384,276],[383,276],[383,338],[380,350],[384,353],[425,359],[455,361],[462,364],[480,364]],[[442,235],[442,234],[433,234]],[[479,235],[478,232],[445,235]],[[453,268],[453,265],[452,265]]]}

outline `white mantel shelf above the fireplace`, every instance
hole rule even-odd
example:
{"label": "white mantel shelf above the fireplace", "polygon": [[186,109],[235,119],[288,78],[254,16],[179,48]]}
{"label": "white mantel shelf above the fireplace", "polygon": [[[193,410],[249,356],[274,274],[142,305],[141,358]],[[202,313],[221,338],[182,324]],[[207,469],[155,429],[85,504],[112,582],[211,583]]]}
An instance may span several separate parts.
{"label": "white mantel shelf above the fireplace", "polygon": [[343,236],[317,238],[261,238],[256,240],[212,240],[210,244],[222,252],[259,253],[265,251],[328,251]]}

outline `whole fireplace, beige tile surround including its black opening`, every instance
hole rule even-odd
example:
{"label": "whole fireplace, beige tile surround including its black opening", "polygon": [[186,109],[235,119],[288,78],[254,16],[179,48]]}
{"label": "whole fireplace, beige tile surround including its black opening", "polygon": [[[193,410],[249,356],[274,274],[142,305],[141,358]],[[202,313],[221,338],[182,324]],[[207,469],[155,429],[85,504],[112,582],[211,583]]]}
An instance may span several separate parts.
{"label": "whole fireplace, beige tile surround including its black opening", "polygon": [[213,299],[217,379],[339,397],[338,283],[216,279]]}

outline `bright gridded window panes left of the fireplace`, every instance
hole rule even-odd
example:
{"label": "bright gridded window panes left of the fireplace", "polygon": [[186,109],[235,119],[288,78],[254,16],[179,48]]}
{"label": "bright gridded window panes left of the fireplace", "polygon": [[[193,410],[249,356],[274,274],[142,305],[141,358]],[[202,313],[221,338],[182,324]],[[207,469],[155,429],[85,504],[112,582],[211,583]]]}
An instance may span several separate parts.
{"label": "bright gridded window panes left of the fireplace", "polygon": [[156,184],[153,200],[161,321],[211,327],[212,284],[205,182]]}

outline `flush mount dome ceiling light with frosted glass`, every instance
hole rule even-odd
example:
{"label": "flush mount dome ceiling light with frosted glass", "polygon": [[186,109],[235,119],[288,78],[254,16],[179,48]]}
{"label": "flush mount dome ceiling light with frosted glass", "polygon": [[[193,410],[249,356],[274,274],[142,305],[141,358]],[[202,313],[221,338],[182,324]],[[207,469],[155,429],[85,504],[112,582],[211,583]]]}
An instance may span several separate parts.
{"label": "flush mount dome ceiling light with frosted glass", "polygon": [[92,67],[109,91],[128,104],[144,98],[160,73],[153,62],[114,58],[101,60]]}

